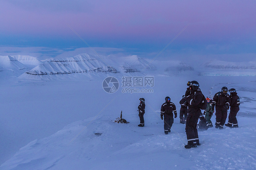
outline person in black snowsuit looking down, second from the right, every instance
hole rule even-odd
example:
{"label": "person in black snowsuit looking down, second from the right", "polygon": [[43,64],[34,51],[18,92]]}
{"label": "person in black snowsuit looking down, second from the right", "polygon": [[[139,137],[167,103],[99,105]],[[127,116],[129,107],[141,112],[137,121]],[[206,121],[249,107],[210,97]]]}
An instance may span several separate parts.
{"label": "person in black snowsuit looking down, second from the right", "polygon": [[212,110],[215,107],[216,123],[215,128],[223,129],[223,126],[227,119],[227,110],[230,105],[230,96],[227,94],[227,87],[222,87],[221,92],[214,95],[212,101]]}

